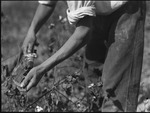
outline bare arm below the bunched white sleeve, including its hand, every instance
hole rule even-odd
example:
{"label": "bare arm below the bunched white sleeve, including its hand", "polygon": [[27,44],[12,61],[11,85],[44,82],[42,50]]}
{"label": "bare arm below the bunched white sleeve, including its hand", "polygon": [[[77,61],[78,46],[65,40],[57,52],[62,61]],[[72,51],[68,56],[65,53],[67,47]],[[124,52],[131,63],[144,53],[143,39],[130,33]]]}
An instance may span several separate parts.
{"label": "bare arm below the bunched white sleeve, including its hand", "polygon": [[81,19],[77,23],[76,30],[74,31],[73,35],[67,40],[67,42],[49,59],[34,67],[25,77],[25,80],[21,83],[20,87],[26,88],[26,90],[29,91],[32,87],[38,84],[42,76],[47,71],[83,47],[90,37],[92,20],[93,17],[89,16]]}

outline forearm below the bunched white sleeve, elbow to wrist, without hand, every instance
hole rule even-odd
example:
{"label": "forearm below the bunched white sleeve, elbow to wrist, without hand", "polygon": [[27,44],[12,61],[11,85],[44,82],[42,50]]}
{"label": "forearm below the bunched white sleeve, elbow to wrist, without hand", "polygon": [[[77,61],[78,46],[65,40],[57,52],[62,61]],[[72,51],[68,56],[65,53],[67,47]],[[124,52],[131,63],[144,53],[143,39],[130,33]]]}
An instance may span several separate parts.
{"label": "forearm below the bunched white sleeve, elbow to wrist, without hand", "polygon": [[40,65],[43,67],[44,71],[48,71],[60,62],[64,61],[87,43],[91,31],[91,17],[86,19],[85,22],[86,21],[88,25],[81,23],[81,25],[76,28],[74,34],[68,39],[68,41],[53,56],[51,56]]}

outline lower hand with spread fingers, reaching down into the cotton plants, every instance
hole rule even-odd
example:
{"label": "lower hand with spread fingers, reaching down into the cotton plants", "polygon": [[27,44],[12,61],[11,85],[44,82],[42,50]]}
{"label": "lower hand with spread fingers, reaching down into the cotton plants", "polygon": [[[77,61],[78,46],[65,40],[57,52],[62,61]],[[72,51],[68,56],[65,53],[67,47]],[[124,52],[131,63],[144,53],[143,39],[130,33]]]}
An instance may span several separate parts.
{"label": "lower hand with spread fingers, reaching down into the cotton plants", "polygon": [[42,67],[37,66],[32,68],[20,84],[20,87],[26,89],[28,92],[32,87],[35,87],[39,83],[43,74],[44,71],[42,70]]}

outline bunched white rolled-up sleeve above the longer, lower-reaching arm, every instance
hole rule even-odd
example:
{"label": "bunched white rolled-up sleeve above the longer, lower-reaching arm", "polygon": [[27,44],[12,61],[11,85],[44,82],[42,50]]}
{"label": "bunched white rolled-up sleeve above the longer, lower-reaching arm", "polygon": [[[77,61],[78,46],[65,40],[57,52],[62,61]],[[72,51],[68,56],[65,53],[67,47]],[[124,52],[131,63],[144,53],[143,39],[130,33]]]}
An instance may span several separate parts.
{"label": "bunched white rolled-up sleeve above the longer, lower-reaching arm", "polygon": [[95,1],[68,1],[67,17],[70,24],[76,24],[85,16],[96,16]]}

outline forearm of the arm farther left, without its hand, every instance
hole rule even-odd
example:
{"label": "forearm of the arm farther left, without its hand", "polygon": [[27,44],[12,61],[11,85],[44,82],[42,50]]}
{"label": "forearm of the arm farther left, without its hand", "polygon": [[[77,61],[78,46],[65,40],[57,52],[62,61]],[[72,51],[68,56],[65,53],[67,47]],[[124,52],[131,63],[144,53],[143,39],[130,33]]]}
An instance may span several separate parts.
{"label": "forearm of the arm farther left, without its hand", "polygon": [[39,4],[36,13],[34,15],[34,18],[32,20],[32,23],[30,25],[30,28],[28,30],[28,33],[37,33],[39,29],[42,27],[42,25],[48,20],[48,18],[51,16],[54,8],[55,8],[56,2],[53,3],[50,6],[41,5]]}

